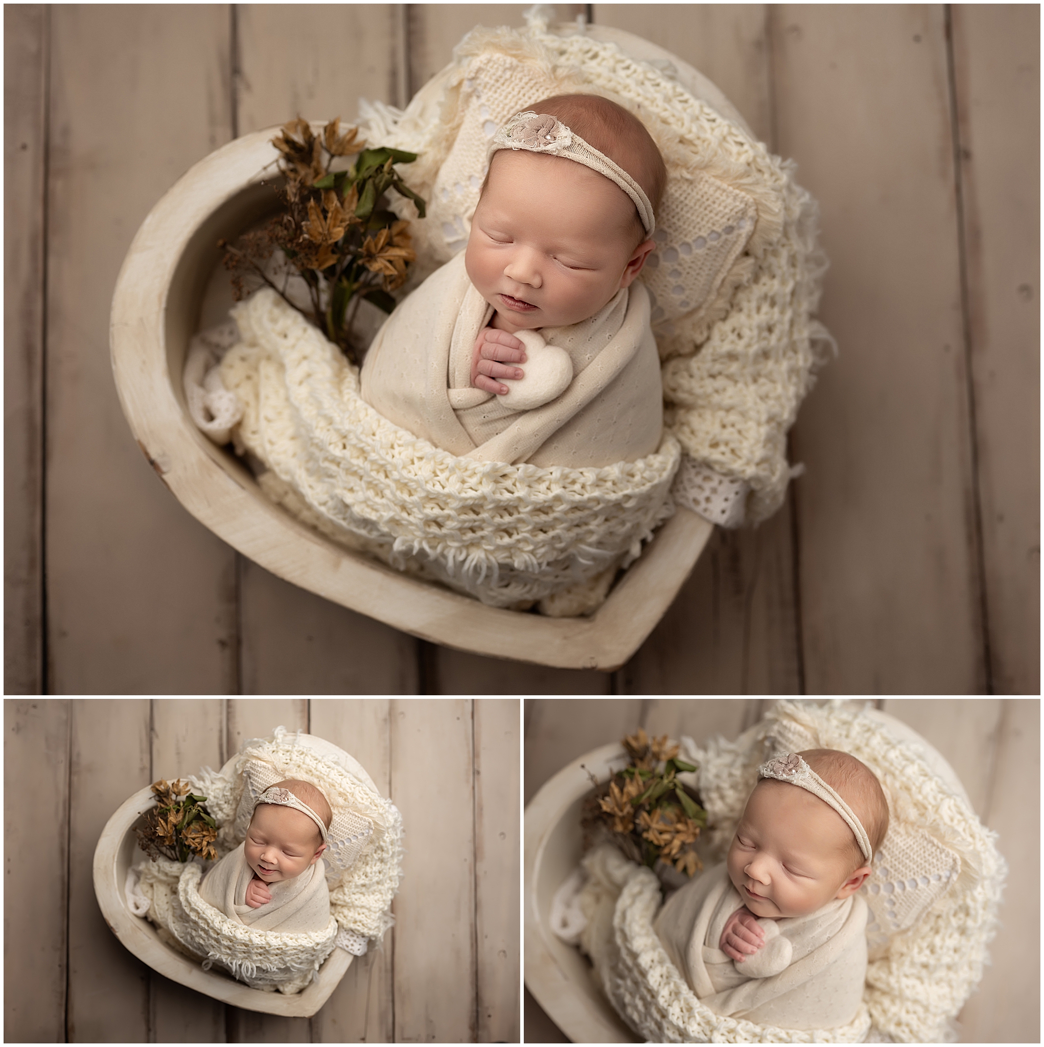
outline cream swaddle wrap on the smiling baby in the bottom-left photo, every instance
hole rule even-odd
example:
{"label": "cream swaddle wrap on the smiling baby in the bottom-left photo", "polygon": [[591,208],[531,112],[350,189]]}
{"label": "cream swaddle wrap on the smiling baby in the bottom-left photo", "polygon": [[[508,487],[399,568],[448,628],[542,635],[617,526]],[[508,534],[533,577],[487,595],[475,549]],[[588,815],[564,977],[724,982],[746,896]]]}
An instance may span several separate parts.
{"label": "cream swaddle wrap on the smiling baby in the bottom-left photo", "polygon": [[247,864],[245,844],[240,844],[203,877],[200,897],[229,919],[255,931],[324,931],[331,919],[324,873],[320,859],[293,879],[266,884],[272,900],[253,909],[247,905],[246,893],[254,871]]}

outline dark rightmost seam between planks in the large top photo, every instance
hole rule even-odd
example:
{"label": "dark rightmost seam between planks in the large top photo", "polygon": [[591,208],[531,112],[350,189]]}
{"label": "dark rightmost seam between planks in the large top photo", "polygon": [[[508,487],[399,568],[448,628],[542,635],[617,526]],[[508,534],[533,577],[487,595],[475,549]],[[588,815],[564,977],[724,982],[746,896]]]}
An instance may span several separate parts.
{"label": "dark rightmost seam between planks in the large top photo", "polygon": [[960,142],[960,117],[957,109],[957,71],[953,51],[953,5],[944,7],[946,27],[947,87],[950,95],[950,131],[953,140],[953,184],[957,218],[957,258],[960,281],[960,328],[964,356],[964,403],[968,410],[968,445],[972,481],[972,544],[975,553],[975,588],[979,609],[982,645],[982,672],[985,693],[994,693],[993,659],[990,650],[990,608],[986,600],[985,550],[982,539],[982,498],[979,490],[979,441],[975,415],[975,381],[972,371],[971,294],[968,286],[968,242],[964,235],[963,149]]}

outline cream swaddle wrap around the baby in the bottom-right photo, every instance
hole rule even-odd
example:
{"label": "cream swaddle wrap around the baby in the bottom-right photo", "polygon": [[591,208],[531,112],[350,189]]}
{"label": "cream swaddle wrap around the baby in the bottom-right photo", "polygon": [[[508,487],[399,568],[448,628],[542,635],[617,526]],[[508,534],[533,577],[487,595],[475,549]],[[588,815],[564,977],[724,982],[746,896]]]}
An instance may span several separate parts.
{"label": "cream swaddle wrap around the baby in the bottom-right photo", "polygon": [[742,963],[718,946],[743,908],[725,864],[672,895],[655,929],[672,962],[711,1010],[790,1029],[850,1022],[866,979],[866,903],[835,899],[814,913],[759,919],[765,945]]}

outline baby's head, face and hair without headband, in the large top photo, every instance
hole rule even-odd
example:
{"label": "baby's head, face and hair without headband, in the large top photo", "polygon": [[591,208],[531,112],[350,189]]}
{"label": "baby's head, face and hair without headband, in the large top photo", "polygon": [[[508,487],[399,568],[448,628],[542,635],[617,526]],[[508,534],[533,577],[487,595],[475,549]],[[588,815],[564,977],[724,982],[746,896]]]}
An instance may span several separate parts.
{"label": "baby's head, face and hair without headband, in the large top photo", "polygon": [[[554,117],[612,160],[656,208],[666,169],[637,117],[594,94],[526,108]],[[593,316],[635,280],[654,246],[617,181],[565,156],[505,148],[491,158],[464,264],[497,310],[496,326],[514,332]]]}

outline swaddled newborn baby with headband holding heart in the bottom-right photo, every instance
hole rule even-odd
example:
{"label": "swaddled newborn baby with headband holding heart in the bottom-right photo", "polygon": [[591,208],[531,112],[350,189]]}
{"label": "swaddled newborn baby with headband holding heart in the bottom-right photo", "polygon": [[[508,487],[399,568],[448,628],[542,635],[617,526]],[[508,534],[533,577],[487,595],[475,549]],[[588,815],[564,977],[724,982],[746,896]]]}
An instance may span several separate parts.
{"label": "swaddled newborn baby with headband holding heart in the bottom-right photo", "polygon": [[873,773],[830,749],[791,753],[761,779],[723,865],[674,894],[656,932],[720,1015],[790,1029],[852,1021],[866,977],[866,904],[888,827]]}

